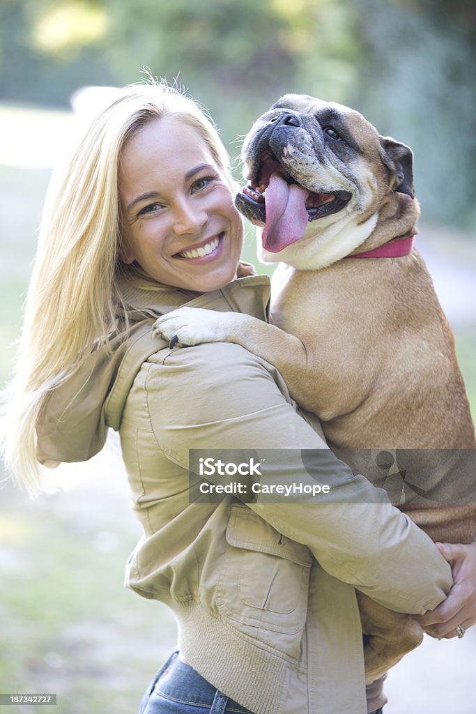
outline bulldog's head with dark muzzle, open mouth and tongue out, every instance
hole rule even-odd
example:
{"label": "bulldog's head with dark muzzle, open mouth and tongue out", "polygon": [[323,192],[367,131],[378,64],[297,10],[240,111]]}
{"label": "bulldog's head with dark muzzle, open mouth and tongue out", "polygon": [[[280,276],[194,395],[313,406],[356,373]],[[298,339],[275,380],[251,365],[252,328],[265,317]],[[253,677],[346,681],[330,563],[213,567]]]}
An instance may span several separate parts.
{"label": "bulldog's head with dark muzzle, open mouth and tongue out", "polygon": [[263,226],[266,262],[328,265],[370,236],[395,193],[414,197],[407,146],[380,136],[358,111],[307,95],[273,104],[242,156],[248,185],[236,206]]}

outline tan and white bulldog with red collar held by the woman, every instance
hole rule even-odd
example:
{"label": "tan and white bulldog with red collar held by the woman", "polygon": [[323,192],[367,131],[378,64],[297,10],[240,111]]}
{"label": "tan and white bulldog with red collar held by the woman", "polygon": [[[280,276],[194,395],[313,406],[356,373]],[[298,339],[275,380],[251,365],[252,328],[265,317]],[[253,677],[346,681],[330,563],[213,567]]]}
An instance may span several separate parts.
{"label": "tan and white bulldog with red collar held by the woman", "polygon": [[[386,473],[393,463],[411,473],[391,494],[396,504],[434,540],[470,542],[475,431],[454,338],[412,247],[420,213],[412,151],[358,111],[287,94],[255,122],[242,155],[248,184],[236,206],[258,226],[260,258],[280,263],[273,324],[181,308],[158,331],[183,345],[236,342],[273,363],[352,468],[377,486],[386,485],[383,462]],[[370,682],[422,630],[358,600]]]}

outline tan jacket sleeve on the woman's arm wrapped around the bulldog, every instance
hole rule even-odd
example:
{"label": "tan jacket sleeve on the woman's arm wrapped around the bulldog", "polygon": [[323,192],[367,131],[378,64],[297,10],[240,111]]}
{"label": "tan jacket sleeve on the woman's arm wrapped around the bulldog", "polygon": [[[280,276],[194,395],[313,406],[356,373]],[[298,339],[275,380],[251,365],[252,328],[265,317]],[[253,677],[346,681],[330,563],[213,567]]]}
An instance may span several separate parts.
{"label": "tan jacket sleeve on the woman's arm wrapped around the bulldog", "polygon": [[[424,613],[445,598],[450,566],[430,538],[338,460],[268,363],[238,345],[204,344],[157,353],[142,379],[151,430],[168,459],[188,469],[189,449],[318,450],[315,468],[332,479],[333,503],[318,497],[248,506],[307,545],[330,575],[393,610]],[[283,473],[310,478],[298,461]]]}

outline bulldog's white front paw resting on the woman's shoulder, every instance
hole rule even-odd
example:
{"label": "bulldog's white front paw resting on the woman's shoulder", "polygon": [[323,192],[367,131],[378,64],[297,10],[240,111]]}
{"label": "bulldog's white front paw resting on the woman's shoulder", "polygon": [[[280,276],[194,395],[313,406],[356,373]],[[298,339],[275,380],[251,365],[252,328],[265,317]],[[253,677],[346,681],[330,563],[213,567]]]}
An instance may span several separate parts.
{"label": "bulldog's white front paw resting on the woman's shoulder", "polygon": [[204,308],[178,308],[156,320],[153,334],[168,340],[171,347],[226,341],[226,313]]}

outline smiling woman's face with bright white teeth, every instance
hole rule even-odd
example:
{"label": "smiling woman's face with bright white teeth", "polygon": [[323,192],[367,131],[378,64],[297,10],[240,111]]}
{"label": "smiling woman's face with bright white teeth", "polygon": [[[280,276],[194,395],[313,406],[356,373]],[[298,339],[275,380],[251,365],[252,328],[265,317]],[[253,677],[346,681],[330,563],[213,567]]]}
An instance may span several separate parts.
{"label": "smiling woman's face with bright white teeth", "polygon": [[124,263],[200,293],[236,277],[243,226],[196,129],[168,116],[150,121],[123,148],[118,187]]}

